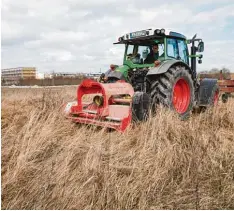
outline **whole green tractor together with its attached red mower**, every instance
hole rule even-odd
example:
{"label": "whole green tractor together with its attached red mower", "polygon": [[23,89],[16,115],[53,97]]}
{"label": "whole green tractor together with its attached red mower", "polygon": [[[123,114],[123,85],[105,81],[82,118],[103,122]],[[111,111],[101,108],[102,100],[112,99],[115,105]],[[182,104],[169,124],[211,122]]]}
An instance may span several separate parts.
{"label": "whole green tractor together with its attached red mower", "polygon": [[[218,102],[217,80],[197,78],[197,59],[202,63],[197,52],[204,51],[204,42],[196,35],[186,39],[165,29],[147,29],[125,34],[114,44],[125,46],[123,65],[111,65],[101,83],[79,85],[77,102],[65,105],[72,121],[124,131],[132,120],[147,119],[159,104],[186,118],[194,108]],[[85,94],[96,96],[85,104]]]}

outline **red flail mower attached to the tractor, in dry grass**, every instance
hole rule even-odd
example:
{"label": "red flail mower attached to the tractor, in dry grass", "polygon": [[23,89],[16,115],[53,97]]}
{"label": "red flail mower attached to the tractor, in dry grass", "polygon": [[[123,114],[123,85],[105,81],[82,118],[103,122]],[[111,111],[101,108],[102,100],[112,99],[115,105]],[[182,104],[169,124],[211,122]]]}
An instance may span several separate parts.
{"label": "red flail mower attached to the tractor, in dry grass", "polygon": [[[132,119],[133,94],[124,81],[102,84],[87,79],[77,89],[77,101],[67,103],[64,112],[73,122],[124,131]],[[93,100],[83,102],[84,95],[93,95]]]}

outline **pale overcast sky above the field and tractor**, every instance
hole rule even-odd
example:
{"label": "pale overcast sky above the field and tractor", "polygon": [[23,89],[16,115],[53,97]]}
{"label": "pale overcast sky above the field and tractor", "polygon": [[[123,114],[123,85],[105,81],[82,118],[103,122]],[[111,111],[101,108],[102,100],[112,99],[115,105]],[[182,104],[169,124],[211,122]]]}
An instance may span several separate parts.
{"label": "pale overcast sky above the field and tractor", "polygon": [[119,36],[157,27],[203,38],[199,70],[234,71],[234,0],[2,0],[2,68],[104,72]]}

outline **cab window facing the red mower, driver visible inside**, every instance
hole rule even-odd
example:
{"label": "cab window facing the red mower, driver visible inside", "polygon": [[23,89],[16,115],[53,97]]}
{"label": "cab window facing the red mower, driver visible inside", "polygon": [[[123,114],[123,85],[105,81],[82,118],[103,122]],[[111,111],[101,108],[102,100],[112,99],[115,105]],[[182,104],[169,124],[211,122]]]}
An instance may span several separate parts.
{"label": "cab window facing the red mower, driver visible inside", "polygon": [[133,64],[152,64],[164,58],[164,43],[162,41],[151,45],[128,45],[125,60]]}

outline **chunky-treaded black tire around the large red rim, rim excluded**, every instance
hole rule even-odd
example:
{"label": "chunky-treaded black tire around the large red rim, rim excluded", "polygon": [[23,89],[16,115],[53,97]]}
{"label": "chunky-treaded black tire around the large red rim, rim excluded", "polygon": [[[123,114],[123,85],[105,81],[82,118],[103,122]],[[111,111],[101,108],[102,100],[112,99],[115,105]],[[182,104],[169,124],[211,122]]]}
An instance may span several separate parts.
{"label": "chunky-treaded black tire around the large red rim, rim excluded", "polygon": [[[179,112],[173,103],[173,92],[177,82],[182,79],[189,87],[190,98],[187,100],[187,104],[183,111]],[[157,104],[162,104],[174,111],[176,111],[181,118],[189,116],[194,106],[194,81],[188,69],[184,66],[173,66],[166,73],[160,74],[151,83],[150,95],[152,100],[152,108]]]}

